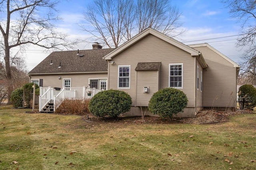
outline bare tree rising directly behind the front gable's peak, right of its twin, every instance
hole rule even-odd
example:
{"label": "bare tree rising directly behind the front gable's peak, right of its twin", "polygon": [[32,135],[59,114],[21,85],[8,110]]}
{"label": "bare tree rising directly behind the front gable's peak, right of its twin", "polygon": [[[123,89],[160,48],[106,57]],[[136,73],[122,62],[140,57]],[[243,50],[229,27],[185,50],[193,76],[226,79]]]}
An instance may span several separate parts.
{"label": "bare tree rising directly behind the front gable's peak, right of its twin", "polygon": [[176,6],[171,6],[170,0],[138,0],[136,5],[136,26],[138,31],[151,27],[166,35],[176,36],[182,33],[179,22],[181,13]]}

